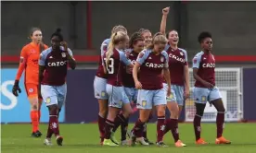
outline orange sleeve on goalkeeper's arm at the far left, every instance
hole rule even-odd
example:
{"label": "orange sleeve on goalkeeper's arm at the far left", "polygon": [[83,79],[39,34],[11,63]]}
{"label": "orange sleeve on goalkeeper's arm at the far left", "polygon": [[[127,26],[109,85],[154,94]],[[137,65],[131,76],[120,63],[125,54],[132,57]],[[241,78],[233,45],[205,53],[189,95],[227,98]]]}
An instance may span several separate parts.
{"label": "orange sleeve on goalkeeper's arm at the far left", "polygon": [[19,80],[20,76],[22,75],[26,63],[27,63],[27,59],[28,59],[28,53],[26,52],[26,48],[23,47],[20,53],[20,57],[19,57],[19,68],[18,68],[18,72],[17,72],[17,76],[15,79]]}

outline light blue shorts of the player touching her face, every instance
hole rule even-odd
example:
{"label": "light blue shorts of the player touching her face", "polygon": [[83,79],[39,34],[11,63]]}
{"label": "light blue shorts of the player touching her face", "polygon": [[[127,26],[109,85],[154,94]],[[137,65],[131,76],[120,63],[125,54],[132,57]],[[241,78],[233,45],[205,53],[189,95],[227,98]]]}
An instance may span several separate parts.
{"label": "light blue shorts of the player touching her face", "polygon": [[41,94],[46,106],[57,104],[60,109],[66,100],[67,84],[62,86],[41,85]]}

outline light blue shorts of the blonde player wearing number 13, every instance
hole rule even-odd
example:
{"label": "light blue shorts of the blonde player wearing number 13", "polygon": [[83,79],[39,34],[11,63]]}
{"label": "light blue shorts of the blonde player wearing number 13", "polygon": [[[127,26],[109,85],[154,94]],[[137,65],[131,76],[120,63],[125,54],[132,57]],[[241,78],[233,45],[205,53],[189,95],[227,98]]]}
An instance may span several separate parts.
{"label": "light blue shorts of the blonde player wearing number 13", "polygon": [[106,90],[109,96],[109,106],[121,109],[123,104],[130,103],[123,87],[107,84]]}

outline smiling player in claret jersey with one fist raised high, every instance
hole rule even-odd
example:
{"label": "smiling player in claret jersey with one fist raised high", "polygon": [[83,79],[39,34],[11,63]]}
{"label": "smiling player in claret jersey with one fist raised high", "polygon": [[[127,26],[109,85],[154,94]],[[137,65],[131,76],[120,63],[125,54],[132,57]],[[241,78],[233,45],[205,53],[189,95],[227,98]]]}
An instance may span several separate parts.
{"label": "smiling player in claret jersey with one fist raised high", "polygon": [[[167,11],[165,11],[167,12]],[[169,12],[169,9],[168,9]],[[163,10],[164,14],[164,10]],[[161,19],[160,32],[165,33],[167,16]],[[188,82],[188,65],[187,55],[184,49],[178,48],[179,36],[176,30],[171,30],[167,33],[168,44],[165,46],[165,51],[169,56],[169,71],[171,73],[171,96],[167,97],[167,108],[171,112],[170,118],[166,119],[165,133],[171,130],[174,138],[175,147],[186,147],[186,145],[179,140],[178,133],[178,117],[182,111],[184,100],[189,95]],[[163,87],[167,90],[168,85],[163,80]],[[172,126],[168,126],[168,123]]]}

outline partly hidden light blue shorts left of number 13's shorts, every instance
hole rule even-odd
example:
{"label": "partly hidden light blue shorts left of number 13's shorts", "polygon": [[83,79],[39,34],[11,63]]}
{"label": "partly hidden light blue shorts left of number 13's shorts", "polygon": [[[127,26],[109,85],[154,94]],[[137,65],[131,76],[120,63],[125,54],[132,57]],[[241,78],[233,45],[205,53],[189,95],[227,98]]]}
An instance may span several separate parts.
{"label": "partly hidden light blue shorts left of number 13's shorts", "polygon": [[102,77],[95,77],[94,89],[95,89],[95,98],[98,100],[108,100],[108,94],[106,91],[107,79]]}

